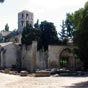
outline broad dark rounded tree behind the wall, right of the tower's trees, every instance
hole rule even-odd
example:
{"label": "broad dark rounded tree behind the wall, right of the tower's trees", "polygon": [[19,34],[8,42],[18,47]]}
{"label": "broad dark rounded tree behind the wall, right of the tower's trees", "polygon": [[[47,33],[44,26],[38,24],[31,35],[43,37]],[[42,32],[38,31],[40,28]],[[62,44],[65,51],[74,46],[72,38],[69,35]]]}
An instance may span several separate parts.
{"label": "broad dark rounded tree behind the wall, right of the tower's trees", "polygon": [[48,45],[59,44],[59,39],[57,36],[57,31],[53,23],[43,21],[40,24],[41,35],[40,35],[40,45],[44,50],[48,50]]}

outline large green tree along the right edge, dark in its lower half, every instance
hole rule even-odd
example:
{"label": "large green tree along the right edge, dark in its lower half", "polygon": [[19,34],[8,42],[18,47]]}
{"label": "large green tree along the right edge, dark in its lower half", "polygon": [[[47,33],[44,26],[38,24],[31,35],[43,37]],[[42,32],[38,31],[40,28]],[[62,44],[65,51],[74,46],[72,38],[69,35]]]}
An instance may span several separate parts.
{"label": "large green tree along the right edge, dark in its lower half", "polygon": [[88,2],[84,8],[77,10],[73,17],[76,30],[74,43],[79,48],[78,56],[83,62],[85,69],[88,69]]}

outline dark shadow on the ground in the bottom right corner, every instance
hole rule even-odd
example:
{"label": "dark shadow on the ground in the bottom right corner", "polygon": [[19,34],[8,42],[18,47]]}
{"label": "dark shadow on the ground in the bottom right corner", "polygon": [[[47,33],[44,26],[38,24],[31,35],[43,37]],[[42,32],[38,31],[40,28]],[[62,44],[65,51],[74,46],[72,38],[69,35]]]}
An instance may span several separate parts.
{"label": "dark shadow on the ground in the bottom right corner", "polygon": [[72,86],[65,86],[65,88],[88,88],[88,81],[75,83]]}

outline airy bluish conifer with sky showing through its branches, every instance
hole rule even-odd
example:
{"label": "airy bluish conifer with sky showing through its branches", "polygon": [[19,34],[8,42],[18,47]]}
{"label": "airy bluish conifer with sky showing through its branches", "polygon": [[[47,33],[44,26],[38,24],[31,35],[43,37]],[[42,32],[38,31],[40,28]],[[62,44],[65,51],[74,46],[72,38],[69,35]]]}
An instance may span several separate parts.
{"label": "airy bluish conifer with sky showing through its branches", "polygon": [[62,29],[59,35],[60,35],[62,44],[66,45],[69,39],[73,39],[74,25],[72,22],[72,15],[70,15],[69,13],[66,15],[66,20],[62,21],[61,27]]}

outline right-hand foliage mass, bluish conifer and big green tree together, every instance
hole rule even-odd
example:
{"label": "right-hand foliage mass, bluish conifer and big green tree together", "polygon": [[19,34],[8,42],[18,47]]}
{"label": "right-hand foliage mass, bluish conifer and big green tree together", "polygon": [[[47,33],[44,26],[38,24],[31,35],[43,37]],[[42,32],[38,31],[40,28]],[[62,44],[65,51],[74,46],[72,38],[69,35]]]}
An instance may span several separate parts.
{"label": "right-hand foliage mass, bluish conifer and big green tree together", "polygon": [[77,55],[88,69],[88,2],[72,14],[67,14],[60,33],[62,40],[71,37],[78,46]]}

